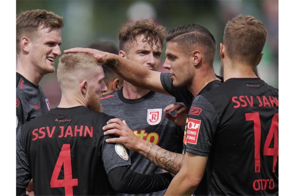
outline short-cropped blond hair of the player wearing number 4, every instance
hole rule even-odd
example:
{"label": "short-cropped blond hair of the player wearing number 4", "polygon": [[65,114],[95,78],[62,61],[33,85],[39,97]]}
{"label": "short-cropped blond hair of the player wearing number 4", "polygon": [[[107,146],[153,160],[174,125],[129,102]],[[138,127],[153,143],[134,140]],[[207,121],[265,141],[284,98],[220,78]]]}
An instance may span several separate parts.
{"label": "short-cropped blond hair of the player wearing number 4", "polygon": [[[72,88],[73,83],[86,79],[100,63],[86,53],[67,53],[59,58],[57,78],[60,88]],[[83,78],[84,77],[84,78]]]}

